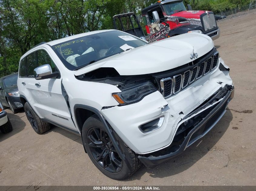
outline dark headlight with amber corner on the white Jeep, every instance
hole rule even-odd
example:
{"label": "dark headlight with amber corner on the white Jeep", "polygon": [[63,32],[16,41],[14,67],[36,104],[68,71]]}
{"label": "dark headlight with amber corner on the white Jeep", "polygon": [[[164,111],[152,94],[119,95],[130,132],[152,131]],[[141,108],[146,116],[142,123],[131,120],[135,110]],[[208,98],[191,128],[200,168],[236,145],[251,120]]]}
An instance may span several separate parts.
{"label": "dark headlight with amber corner on the white Jeep", "polygon": [[120,105],[127,105],[138,102],[155,91],[157,91],[155,86],[150,81],[146,81],[133,84],[133,86],[123,89],[120,93],[112,94],[112,96]]}

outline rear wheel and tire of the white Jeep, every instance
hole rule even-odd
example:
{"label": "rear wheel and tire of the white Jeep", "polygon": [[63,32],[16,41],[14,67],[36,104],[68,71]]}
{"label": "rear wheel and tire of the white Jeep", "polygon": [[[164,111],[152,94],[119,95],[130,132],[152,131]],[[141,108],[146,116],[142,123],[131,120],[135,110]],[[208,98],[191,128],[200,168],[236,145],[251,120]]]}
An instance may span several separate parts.
{"label": "rear wheel and tire of the white Jeep", "polygon": [[43,122],[32,109],[32,107],[30,107],[28,102],[24,104],[24,110],[30,125],[36,133],[42,134],[51,129],[50,123]]}

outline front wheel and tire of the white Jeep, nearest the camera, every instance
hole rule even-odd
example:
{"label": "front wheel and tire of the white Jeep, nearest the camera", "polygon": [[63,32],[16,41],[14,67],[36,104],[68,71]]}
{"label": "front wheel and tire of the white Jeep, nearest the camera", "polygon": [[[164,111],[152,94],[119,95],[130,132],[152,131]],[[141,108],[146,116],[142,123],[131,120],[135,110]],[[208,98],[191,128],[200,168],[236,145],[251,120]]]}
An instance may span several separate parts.
{"label": "front wheel and tire of the white Jeep, nearest the camera", "polygon": [[122,152],[125,153],[125,158],[130,167],[119,157],[97,115],[89,117],[83,125],[83,143],[93,164],[107,177],[123,180],[139,169],[141,161],[138,159],[137,154],[128,148],[117,134],[115,136]]}

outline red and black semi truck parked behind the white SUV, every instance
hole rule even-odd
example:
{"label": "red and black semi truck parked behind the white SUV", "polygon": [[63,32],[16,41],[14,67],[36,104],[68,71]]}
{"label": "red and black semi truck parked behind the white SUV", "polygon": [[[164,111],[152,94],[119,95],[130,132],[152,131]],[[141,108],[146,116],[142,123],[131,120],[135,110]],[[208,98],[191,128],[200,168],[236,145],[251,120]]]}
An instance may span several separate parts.
{"label": "red and black semi truck parked behind the white SUV", "polygon": [[147,39],[149,42],[183,33],[203,33],[211,37],[212,40],[220,36],[220,29],[213,12],[192,11],[190,5],[187,10],[182,0],[158,1],[143,9],[141,14],[147,37],[145,37],[134,12],[115,15],[113,17],[114,28]]}

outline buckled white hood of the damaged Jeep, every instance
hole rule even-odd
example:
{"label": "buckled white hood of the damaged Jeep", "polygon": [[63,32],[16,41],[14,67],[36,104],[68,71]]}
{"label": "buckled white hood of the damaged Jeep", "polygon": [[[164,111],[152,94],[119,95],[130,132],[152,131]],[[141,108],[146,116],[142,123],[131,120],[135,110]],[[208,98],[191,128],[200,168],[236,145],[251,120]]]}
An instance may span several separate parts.
{"label": "buckled white hood of the damaged Jeep", "polygon": [[79,69],[75,75],[98,68],[115,68],[120,75],[162,72],[193,61],[190,59],[193,47],[199,58],[211,51],[214,43],[207,35],[185,33],[110,56]]}

